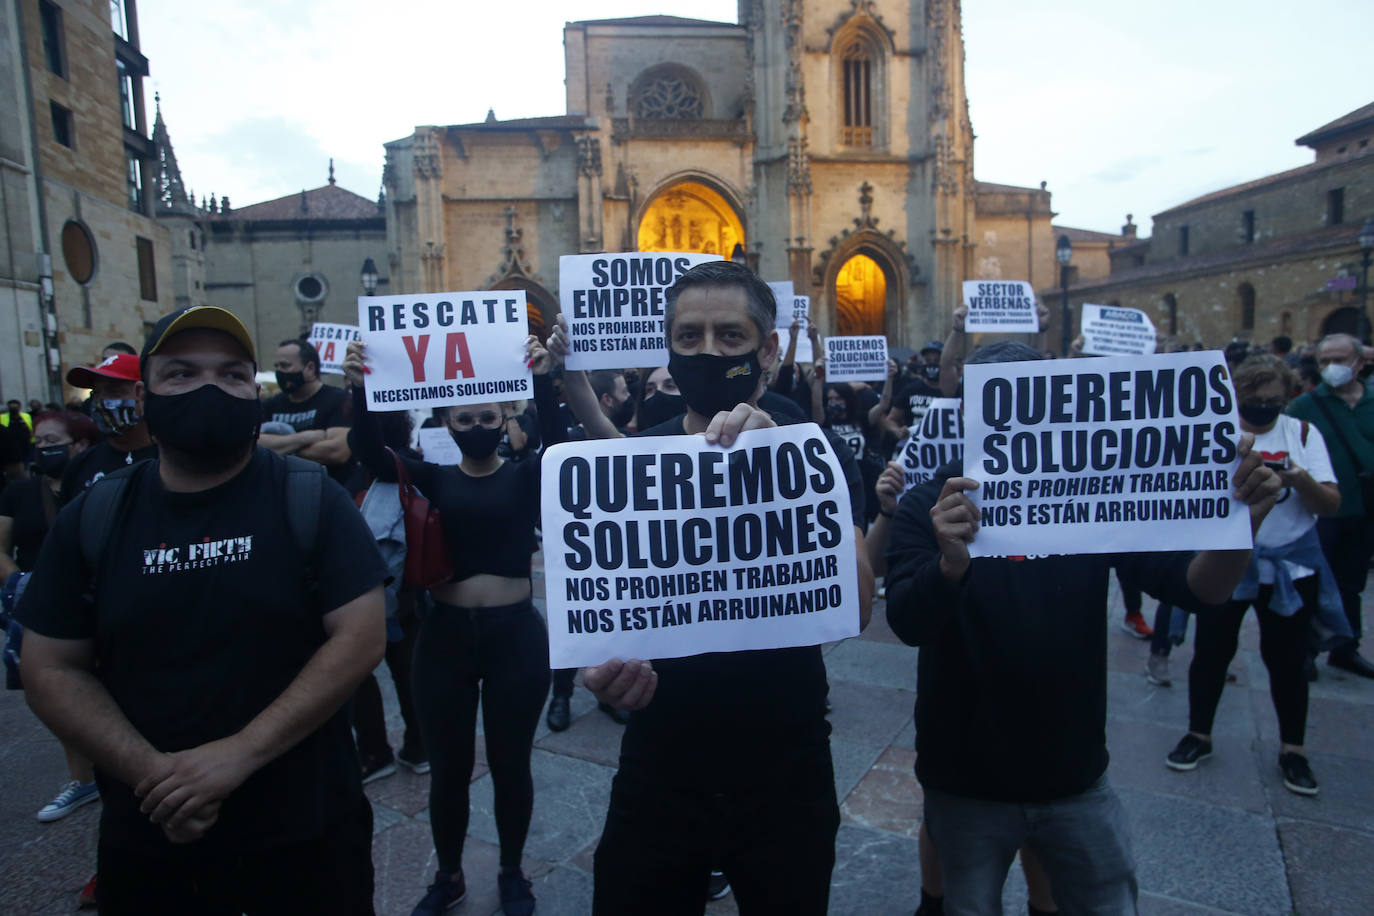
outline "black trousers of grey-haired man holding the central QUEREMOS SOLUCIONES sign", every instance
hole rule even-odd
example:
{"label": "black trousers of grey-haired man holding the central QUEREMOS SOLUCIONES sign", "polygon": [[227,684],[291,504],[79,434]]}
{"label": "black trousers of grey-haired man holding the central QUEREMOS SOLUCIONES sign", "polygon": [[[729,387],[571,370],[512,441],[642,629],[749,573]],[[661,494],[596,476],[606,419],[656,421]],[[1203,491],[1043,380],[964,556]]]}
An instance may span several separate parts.
{"label": "black trousers of grey-haired man holding the central QUEREMOS SOLUCIONES sign", "polygon": [[769,776],[714,792],[617,773],[596,846],[595,916],[701,916],[712,868],[725,872],[741,916],[824,916],[840,829],[830,748]]}

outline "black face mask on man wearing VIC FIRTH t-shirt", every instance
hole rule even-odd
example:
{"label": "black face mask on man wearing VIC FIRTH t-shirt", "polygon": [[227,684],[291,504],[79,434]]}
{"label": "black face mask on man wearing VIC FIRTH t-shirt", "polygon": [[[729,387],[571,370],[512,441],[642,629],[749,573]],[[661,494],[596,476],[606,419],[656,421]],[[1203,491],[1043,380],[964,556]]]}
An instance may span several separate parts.
{"label": "black face mask on man wearing VIC FIRTH t-shirt", "polygon": [[262,404],[234,397],[218,385],[202,385],[181,394],[143,398],[148,433],[177,453],[190,470],[214,474],[229,468],[257,442]]}

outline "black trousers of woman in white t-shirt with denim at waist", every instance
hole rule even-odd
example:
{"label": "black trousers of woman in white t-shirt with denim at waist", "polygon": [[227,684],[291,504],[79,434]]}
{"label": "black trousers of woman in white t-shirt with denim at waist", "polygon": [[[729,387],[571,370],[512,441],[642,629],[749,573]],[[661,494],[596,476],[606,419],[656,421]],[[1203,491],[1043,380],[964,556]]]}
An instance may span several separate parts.
{"label": "black trousers of woman in white t-shirt with denim at waist", "polygon": [[[1292,617],[1270,610],[1272,585],[1261,585],[1254,600],[1260,619],[1260,656],[1270,672],[1270,696],[1279,717],[1279,740],[1303,744],[1307,735],[1307,629],[1316,607],[1318,577],[1308,575],[1296,582],[1303,607]],[[1235,656],[1241,621],[1249,602],[1227,602],[1221,607],[1197,614],[1197,640],[1193,665],[1189,666],[1189,731],[1212,733],[1216,705],[1226,687],[1226,669]]]}

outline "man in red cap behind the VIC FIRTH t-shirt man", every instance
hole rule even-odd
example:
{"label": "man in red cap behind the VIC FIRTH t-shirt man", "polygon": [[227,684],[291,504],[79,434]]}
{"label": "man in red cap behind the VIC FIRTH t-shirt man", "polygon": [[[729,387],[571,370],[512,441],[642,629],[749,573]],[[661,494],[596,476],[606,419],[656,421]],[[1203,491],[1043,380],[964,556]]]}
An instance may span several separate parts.
{"label": "man in red cap behind the VIC FIRTH t-shirt man", "polygon": [[139,357],[132,353],[111,353],[98,365],[67,372],[67,385],[91,389],[91,419],[106,438],[71,459],[62,472],[63,504],[106,474],[158,456],[133,394],[139,378]]}

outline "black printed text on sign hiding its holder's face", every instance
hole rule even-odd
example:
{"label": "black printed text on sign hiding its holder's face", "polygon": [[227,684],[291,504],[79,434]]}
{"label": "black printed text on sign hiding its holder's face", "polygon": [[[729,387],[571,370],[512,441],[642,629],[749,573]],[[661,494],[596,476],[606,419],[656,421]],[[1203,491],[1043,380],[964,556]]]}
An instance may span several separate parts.
{"label": "black printed text on sign hiding its holder's face", "polygon": [[1221,365],[989,379],[982,525],[1226,518],[1234,397]]}

